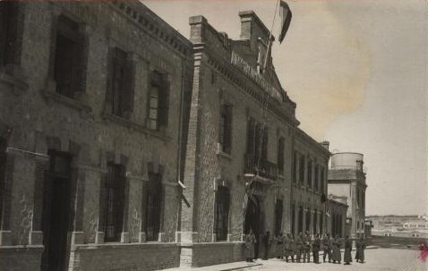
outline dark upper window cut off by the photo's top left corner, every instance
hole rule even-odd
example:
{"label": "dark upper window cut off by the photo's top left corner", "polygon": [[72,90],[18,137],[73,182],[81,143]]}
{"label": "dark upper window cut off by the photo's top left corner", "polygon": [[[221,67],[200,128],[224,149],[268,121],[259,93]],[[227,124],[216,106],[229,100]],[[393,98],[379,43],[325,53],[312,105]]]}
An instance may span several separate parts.
{"label": "dark upper window cut off by the photo's top left corner", "polygon": [[0,2],[0,66],[13,63],[17,16],[18,3],[13,1]]}

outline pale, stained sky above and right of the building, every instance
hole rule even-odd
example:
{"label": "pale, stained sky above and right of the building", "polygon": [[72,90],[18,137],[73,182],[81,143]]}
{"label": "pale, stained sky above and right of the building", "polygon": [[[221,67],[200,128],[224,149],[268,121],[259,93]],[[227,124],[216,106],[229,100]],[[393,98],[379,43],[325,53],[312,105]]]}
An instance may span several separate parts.
{"label": "pale, stained sky above and right of the building", "polygon": [[[239,11],[271,27],[276,0],[142,0],[188,38],[205,16],[239,38]],[[301,128],[332,152],[364,154],[366,215],[428,213],[428,4],[288,0],[293,19],[272,56]],[[273,27],[278,36],[279,21]]]}

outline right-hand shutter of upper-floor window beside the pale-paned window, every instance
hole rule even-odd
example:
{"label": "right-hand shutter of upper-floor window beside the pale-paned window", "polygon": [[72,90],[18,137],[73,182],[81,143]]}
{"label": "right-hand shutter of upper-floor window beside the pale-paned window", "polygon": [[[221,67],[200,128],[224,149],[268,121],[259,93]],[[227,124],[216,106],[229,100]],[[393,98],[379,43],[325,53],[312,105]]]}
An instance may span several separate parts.
{"label": "right-hand shutter of upper-floor window beside the pale-paned window", "polygon": [[122,108],[124,112],[133,112],[133,96],[134,96],[134,85],[135,85],[135,64],[132,59],[132,53],[127,54],[127,60],[125,64],[124,73],[124,89],[123,96],[121,99]]}

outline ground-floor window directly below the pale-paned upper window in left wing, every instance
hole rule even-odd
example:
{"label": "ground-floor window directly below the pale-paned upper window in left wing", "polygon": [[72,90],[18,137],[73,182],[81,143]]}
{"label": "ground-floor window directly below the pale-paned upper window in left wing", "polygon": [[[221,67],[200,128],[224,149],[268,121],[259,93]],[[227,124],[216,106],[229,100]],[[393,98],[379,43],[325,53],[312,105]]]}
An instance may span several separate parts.
{"label": "ground-floor window directly below the pale-paned upper window in left wing", "polygon": [[149,189],[146,203],[146,236],[147,241],[158,241],[160,214],[162,206],[162,177],[160,174],[149,174]]}

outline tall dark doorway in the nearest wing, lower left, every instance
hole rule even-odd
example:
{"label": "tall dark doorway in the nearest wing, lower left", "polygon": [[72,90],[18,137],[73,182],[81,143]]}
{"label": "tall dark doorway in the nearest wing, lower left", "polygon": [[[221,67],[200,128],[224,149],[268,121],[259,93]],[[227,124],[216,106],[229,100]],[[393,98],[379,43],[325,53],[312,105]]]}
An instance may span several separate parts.
{"label": "tall dark doorway in the nearest wing, lower left", "polygon": [[49,151],[50,165],[44,185],[42,271],[66,270],[70,214],[71,162],[65,152]]}

